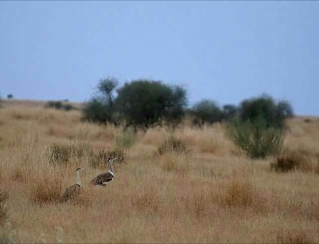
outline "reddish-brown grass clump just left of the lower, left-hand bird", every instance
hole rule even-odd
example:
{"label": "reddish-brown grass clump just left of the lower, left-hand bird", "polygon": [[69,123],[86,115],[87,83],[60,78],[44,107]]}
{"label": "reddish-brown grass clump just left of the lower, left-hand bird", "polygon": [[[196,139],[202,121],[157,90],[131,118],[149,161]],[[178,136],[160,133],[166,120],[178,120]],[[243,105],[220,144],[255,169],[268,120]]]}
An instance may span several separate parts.
{"label": "reddish-brown grass clump just left of the lower, left-hand bird", "polygon": [[62,181],[58,177],[37,179],[31,186],[31,200],[40,205],[57,203],[61,199]]}

